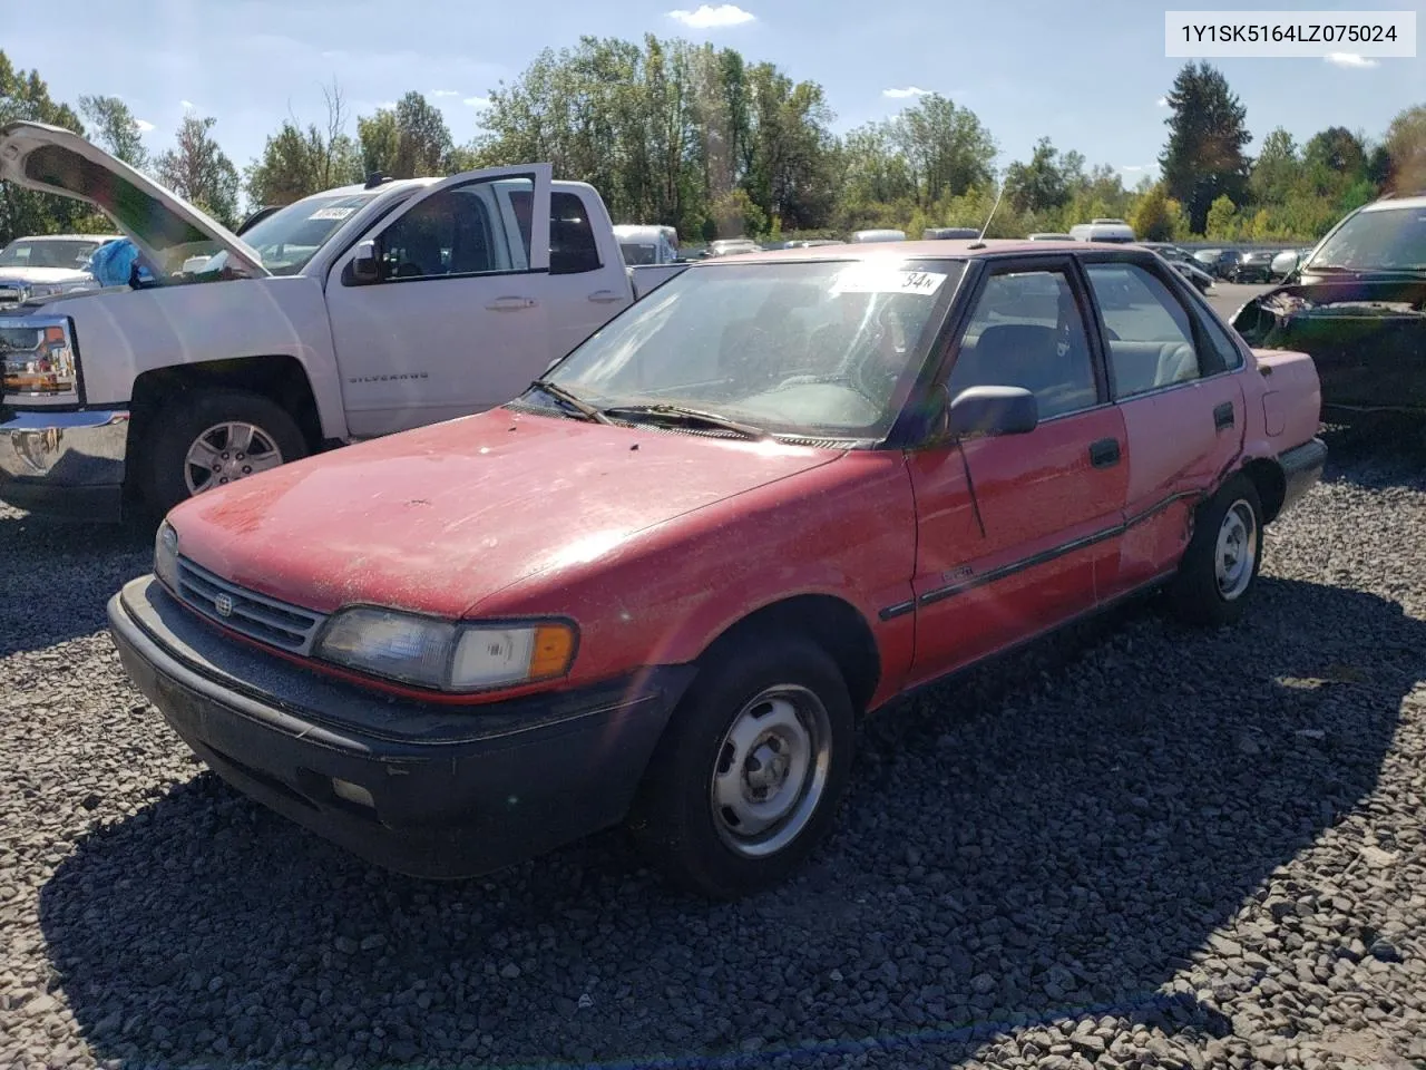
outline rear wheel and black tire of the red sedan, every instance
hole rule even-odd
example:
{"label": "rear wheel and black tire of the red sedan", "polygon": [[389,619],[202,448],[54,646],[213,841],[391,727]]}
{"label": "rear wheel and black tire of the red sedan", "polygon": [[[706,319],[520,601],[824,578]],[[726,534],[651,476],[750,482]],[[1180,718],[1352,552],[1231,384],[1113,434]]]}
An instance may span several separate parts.
{"label": "rear wheel and black tire of the red sedan", "polygon": [[[1231,521],[1231,515],[1236,519]],[[1241,568],[1228,569],[1231,575],[1221,579],[1219,535],[1225,525],[1246,526],[1249,516],[1252,531],[1246,532],[1246,548],[1252,558],[1245,562],[1246,572]],[[1262,528],[1262,501],[1258,498],[1258,488],[1246,475],[1232,477],[1218,494],[1199,506],[1194,518],[1194,535],[1188,541],[1188,549],[1184,551],[1178,575],[1169,589],[1174,609],[1181,618],[1206,626],[1231,625],[1242,618],[1253,591],[1258,589]]]}

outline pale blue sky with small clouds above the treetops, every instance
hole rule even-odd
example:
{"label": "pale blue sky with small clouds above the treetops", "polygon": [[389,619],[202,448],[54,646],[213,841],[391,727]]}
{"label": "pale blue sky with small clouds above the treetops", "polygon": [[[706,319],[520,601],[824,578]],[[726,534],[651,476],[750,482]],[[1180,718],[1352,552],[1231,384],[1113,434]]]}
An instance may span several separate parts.
{"label": "pale blue sky with small clouds above the treetops", "polygon": [[[123,97],[153,124],[145,140],[154,150],[170,143],[185,107],[215,116],[215,133],[241,168],[284,116],[319,120],[321,83],[332,77],[354,114],[421,90],[465,141],[479,128],[482,98],[542,47],[569,46],[580,34],[655,33],[733,46],[794,78],[820,81],[838,131],[937,91],[980,116],[1001,164],[1025,158],[1050,136],[1091,164],[1122,168],[1132,185],[1155,173],[1166,116],[1159,101],[1184,63],[1164,56],[1165,7],[1142,0],[550,0],[540,9],[488,0],[148,0],[86,4],[91,47],[83,60],[46,19],[9,20],[0,47],[16,66],[37,67],[61,100]],[[1400,0],[1313,0],[1312,7],[1412,10]],[[1246,104],[1255,138],[1276,126],[1299,141],[1328,126],[1378,137],[1403,107],[1426,103],[1420,57],[1214,63]]]}

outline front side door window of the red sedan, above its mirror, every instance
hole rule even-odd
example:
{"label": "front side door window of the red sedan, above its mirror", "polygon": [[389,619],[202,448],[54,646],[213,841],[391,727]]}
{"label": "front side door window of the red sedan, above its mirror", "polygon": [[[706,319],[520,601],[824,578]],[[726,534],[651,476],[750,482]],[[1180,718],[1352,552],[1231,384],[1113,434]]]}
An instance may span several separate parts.
{"label": "front side door window of the red sedan, above its mirror", "polygon": [[1035,395],[1041,419],[1095,405],[1089,335],[1065,272],[1007,271],[985,280],[947,387],[951,398],[971,387],[1022,387]]}

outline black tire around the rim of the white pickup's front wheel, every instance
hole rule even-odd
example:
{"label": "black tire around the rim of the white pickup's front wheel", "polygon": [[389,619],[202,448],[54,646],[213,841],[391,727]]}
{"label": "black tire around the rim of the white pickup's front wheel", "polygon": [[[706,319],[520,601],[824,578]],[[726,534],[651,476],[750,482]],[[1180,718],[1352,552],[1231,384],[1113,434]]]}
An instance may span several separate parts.
{"label": "black tire around the rim of the white pickup's front wheel", "polygon": [[193,496],[184,477],[188,449],[204,431],[227,422],[258,428],[275,447],[281,464],[308,454],[307,438],[297,421],[271,398],[241,389],[198,388],[164,405],[153,419],[143,445],[143,482],[137,488],[147,511],[161,516]]}

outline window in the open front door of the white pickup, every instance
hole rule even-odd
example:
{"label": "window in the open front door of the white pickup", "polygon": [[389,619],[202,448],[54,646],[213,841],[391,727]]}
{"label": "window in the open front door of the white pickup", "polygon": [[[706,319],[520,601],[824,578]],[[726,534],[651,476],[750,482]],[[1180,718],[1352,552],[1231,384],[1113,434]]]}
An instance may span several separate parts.
{"label": "window in the open front door of the white pickup", "polygon": [[482,178],[418,201],[376,243],[384,281],[478,275],[529,268],[529,231],[515,197],[529,178]]}

